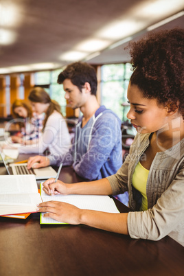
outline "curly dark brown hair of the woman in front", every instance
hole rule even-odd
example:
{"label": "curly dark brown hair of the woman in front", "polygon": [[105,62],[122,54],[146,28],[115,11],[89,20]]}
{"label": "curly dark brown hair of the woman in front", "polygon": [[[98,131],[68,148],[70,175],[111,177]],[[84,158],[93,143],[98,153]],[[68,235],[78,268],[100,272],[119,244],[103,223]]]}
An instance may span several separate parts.
{"label": "curly dark brown hair of the woman in front", "polygon": [[147,98],[179,107],[184,119],[184,29],[174,28],[151,32],[130,47],[133,74],[130,83],[136,84]]}

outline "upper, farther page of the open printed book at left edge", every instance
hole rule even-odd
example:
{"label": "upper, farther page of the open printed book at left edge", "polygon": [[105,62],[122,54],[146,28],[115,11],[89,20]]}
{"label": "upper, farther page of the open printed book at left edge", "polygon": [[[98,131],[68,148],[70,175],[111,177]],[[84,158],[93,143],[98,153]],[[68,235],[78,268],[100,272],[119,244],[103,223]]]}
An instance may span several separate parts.
{"label": "upper, farther page of the open printed book at left edge", "polygon": [[1,175],[0,194],[38,193],[34,175]]}

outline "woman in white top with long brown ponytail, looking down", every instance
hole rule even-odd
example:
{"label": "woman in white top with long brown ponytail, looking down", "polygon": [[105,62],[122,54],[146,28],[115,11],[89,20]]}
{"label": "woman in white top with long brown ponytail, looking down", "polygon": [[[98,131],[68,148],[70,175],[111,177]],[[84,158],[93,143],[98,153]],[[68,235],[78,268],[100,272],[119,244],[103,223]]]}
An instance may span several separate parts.
{"label": "woman in white top with long brown ponytail, looking down", "polygon": [[51,100],[49,94],[41,87],[35,87],[28,97],[35,113],[45,113],[43,121],[42,136],[38,143],[32,146],[23,146],[19,148],[19,153],[55,154],[60,152],[65,154],[71,147],[69,130],[60,112],[58,102]]}

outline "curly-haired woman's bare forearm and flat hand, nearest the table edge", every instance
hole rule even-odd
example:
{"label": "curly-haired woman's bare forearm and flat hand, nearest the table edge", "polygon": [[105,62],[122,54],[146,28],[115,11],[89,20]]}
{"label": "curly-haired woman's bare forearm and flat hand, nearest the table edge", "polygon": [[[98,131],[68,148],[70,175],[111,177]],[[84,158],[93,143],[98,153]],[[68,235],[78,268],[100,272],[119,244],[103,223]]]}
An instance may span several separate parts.
{"label": "curly-haired woman's bare forearm and flat hand, nearest the table edge", "polygon": [[80,209],[69,203],[60,201],[47,201],[40,203],[37,211],[45,213],[45,218],[53,218],[70,225],[89,225],[98,229],[104,229],[115,233],[128,235],[127,217],[128,213],[106,213]]}

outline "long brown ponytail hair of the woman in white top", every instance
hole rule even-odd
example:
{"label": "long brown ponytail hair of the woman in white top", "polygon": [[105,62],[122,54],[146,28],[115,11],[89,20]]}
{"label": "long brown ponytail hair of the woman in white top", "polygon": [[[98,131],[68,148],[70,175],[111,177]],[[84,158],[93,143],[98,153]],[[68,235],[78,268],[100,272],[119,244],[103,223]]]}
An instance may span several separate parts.
{"label": "long brown ponytail hair of the woman in white top", "polygon": [[42,87],[35,87],[30,91],[30,95],[28,96],[28,99],[31,102],[40,102],[41,104],[49,104],[49,108],[47,108],[47,111],[45,112],[45,119],[43,121],[43,130],[45,128],[45,125],[47,123],[48,117],[53,113],[54,111],[58,111],[58,113],[61,113],[60,111],[60,104],[56,102],[55,100],[51,100],[49,94],[43,89]]}

